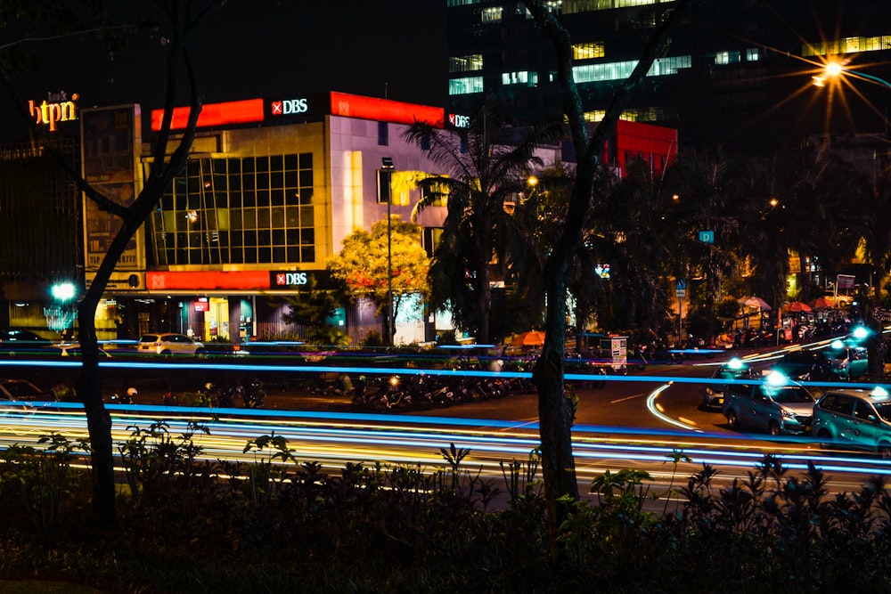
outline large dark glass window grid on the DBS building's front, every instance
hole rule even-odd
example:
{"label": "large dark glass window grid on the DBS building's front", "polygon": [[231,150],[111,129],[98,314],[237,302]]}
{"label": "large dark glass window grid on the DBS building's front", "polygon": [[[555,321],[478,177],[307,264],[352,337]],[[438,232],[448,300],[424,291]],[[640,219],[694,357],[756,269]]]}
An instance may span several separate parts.
{"label": "large dark glass window grid on the DBS building's front", "polygon": [[156,262],[315,262],[312,157],[189,161],[151,218]]}

